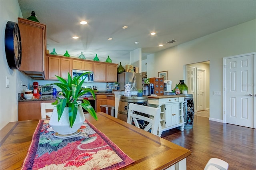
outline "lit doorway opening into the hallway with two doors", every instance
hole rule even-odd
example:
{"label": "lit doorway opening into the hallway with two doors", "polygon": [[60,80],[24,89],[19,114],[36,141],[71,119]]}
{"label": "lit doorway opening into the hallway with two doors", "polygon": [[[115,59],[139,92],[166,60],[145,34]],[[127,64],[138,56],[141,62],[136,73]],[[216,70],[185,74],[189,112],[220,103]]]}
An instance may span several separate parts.
{"label": "lit doorway opening into the hallway with two doors", "polygon": [[[210,109],[210,61],[188,64],[185,67],[188,94],[193,95],[195,115]],[[208,117],[210,117],[210,111]]]}

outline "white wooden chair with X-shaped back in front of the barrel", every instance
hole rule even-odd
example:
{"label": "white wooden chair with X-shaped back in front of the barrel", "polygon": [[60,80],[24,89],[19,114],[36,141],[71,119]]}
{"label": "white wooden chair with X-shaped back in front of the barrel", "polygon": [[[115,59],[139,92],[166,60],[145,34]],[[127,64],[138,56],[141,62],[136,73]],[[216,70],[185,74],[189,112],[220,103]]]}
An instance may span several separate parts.
{"label": "white wooden chair with X-shaped back in front of the barrel", "polygon": [[[160,122],[160,110],[161,110],[160,108],[148,107],[148,106],[142,106],[142,105],[136,105],[134,103],[130,103],[129,109],[128,109],[127,123],[132,124],[132,120],[133,120],[135,126],[140,128],[138,119],[144,120],[148,122],[148,125],[143,130],[148,131],[151,128],[151,133],[157,135],[158,125]],[[150,115],[150,117],[134,114],[134,111],[148,114]]]}

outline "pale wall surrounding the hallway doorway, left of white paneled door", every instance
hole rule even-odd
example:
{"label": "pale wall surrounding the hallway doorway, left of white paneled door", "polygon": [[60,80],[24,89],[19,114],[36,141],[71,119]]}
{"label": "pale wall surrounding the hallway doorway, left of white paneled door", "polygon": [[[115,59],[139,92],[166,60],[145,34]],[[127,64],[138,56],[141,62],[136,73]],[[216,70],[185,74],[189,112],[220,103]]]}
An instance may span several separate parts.
{"label": "pale wall surrounding the hallway doorway, left of white paneled door", "polygon": [[168,70],[168,79],[175,84],[185,79],[183,65],[209,60],[210,119],[222,121],[222,95],[213,95],[222,91],[222,58],[255,51],[256,20],[252,20],[155,53],[154,76]]}

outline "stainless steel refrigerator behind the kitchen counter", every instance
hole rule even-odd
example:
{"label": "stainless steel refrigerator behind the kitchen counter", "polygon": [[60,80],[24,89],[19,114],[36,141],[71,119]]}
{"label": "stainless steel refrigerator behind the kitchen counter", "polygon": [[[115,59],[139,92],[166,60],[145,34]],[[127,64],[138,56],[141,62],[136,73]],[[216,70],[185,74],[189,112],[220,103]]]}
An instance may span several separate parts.
{"label": "stainless steel refrigerator behind the kitchen counter", "polygon": [[121,74],[118,74],[118,83],[120,83],[120,90],[125,90],[124,85],[130,84],[132,88],[132,81],[133,77],[136,78],[136,88],[137,89],[143,89],[142,87],[142,73],[130,73],[130,72],[124,72]]}

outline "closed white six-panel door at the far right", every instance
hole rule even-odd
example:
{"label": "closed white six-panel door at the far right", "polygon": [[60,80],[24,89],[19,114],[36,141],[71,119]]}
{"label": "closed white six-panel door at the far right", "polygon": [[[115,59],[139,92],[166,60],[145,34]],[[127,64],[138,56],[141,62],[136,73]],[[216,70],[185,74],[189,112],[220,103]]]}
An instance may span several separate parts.
{"label": "closed white six-panel door at the far right", "polygon": [[254,122],[256,120],[255,56],[245,55],[225,60],[226,123],[256,128]]}

